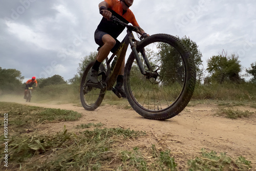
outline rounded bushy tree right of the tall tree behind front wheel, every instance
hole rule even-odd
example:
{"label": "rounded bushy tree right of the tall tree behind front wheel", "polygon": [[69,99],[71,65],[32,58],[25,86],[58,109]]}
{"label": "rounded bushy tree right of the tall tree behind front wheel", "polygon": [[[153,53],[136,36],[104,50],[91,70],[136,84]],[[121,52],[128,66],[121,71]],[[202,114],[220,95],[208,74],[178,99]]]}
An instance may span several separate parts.
{"label": "rounded bushy tree right of the tall tree behind front wheel", "polygon": [[210,73],[211,80],[223,83],[224,81],[231,81],[239,83],[241,71],[239,56],[231,54],[227,56],[225,51],[218,56],[212,56],[207,60],[207,71]]}

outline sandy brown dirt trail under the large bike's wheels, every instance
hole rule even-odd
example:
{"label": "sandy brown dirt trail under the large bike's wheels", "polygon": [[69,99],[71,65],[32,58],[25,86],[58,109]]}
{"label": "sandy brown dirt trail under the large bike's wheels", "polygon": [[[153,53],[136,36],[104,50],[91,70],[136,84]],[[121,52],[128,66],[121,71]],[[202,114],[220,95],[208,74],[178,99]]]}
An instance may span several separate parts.
{"label": "sandy brown dirt trail under the large bike's wheels", "polygon": [[[181,114],[165,121],[144,119],[132,109],[119,109],[120,106],[116,105],[102,105],[91,112],[73,104],[24,104],[82,113],[82,118],[79,121],[41,124],[41,129],[45,132],[62,131],[64,125],[69,131],[72,131],[78,124],[101,122],[106,127],[130,128],[131,130],[146,131],[150,135],[145,142],[133,143],[144,146],[165,143],[171,150],[184,155],[189,154],[189,156],[193,156],[194,153],[198,155],[201,148],[225,152],[233,157],[242,155],[252,161],[253,168],[251,170],[255,169],[256,115],[249,119],[236,120],[217,117],[213,115],[218,109],[217,104],[214,103],[186,107]],[[256,113],[256,109],[248,106],[241,106],[239,109]]]}

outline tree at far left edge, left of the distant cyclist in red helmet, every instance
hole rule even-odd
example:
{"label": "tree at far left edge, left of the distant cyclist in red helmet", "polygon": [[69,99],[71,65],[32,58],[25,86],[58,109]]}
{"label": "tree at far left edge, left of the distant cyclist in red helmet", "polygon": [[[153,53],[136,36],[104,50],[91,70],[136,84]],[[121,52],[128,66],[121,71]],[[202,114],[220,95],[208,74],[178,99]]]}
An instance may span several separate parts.
{"label": "tree at far left edge, left of the distant cyclist in red helmet", "polygon": [[0,67],[0,93],[20,90],[24,76],[16,69],[2,69]]}

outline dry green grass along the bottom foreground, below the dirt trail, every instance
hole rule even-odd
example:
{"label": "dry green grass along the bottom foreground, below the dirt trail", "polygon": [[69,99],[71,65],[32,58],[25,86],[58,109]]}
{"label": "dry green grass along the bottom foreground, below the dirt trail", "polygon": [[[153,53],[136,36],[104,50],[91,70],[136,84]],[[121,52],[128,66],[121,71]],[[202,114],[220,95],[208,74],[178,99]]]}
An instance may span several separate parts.
{"label": "dry green grass along the bottom foreground, below the dirt trail", "polygon": [[[91,124],[88,124],[91,125]],[[92,124],[95,126],[97,124]],[[132,147],[122,149],[126,142],[143,138],[145,132],[121,128],[98,128],[69,133],[66,128],[55,135],[22,134],[12,136],[8,149],[10,170],[179,170],[169,149]],[[1,137],[2,138],[2,137]],[[134,140],[133,140],[134,141]],[[158,144],[159,145],[159,144]],[[0,146],[0,157],[4,156]],[[184,159],[183,159],[184,161]],[[224,153],[207,153],[189,160],[188,170],[248,170],[251,162],[240,156],[237,160]],[[4,169],[0,166],[0,170]],[[182,170],[183,170],[182,169]],[[186,169],[187,170],[187,169]]]}

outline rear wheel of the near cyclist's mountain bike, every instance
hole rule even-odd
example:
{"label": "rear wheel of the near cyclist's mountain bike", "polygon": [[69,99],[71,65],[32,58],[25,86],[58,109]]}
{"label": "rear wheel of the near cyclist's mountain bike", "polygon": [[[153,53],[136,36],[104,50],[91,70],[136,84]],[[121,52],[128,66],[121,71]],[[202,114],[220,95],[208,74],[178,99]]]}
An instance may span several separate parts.
{"label": "rear wheel of the near cyclist's mountain bike", "polygon": [[[101,89],[87,86],[87,82],[89,81],[89,76],[91,74],[91,68],[93,67],[95,62],[90,62],[86,67],[86,70],[83,73],[81,84],[80,84],[80,100],[84,109],[88,111],[94,111],[101,104],[105,92]],[[100,65],[99,74],[104,72],[105,69],[103,65]],[[102,82],[103,75],[98,76],[98,81]]]}

